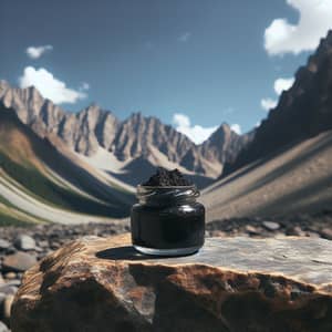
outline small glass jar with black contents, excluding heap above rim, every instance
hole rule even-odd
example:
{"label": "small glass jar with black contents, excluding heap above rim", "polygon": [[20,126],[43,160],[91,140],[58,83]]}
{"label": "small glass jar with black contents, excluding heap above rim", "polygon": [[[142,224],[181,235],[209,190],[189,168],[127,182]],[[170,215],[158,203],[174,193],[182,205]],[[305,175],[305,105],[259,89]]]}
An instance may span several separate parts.
{"label": "small glass jar with black contents, excluding heap above rim", "polygon": [[196,186],[138,186],[132,208],[132,241],[136,250],[157,256],[196,252],[204,245],[205,208]]}

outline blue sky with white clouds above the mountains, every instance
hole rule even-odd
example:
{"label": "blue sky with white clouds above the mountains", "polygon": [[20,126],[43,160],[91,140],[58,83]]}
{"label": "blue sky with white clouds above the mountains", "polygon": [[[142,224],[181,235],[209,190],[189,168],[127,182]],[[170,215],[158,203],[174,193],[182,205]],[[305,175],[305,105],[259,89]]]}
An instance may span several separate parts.
{"label": "blue sky with white clouds above the mountains", "polygon": [[266,117],[329,28],[332,0],[2,0],[0,79],[199,142]]}

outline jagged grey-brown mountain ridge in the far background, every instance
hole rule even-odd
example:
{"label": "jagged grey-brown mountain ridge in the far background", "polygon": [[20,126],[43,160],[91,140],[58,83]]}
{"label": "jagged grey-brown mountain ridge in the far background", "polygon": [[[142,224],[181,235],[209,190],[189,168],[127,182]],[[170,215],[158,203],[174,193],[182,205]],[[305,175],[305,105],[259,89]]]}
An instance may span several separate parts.
{"label": "jagged grey-brown mountain ridge in the far background", "polygon": [[[239,136],[222,124],[205,143],[195,145],[156,117],[134,113],[121,122],[97,105],[70,113],[43,98],[32,86],[15,89],[4,81],[0,81],[1,100],[40,137],[56,136],[85,162],[132,185],[143,180],[137,179],[137,174],[138,181],[135,180],[125,169],[136,158],[137,163],[143,158],[153,166],[181,167],[190,177],[198,176],[201,185],[208,184],[252,139],[252,134]],[[108,160],[112,163],[104,163]]]}

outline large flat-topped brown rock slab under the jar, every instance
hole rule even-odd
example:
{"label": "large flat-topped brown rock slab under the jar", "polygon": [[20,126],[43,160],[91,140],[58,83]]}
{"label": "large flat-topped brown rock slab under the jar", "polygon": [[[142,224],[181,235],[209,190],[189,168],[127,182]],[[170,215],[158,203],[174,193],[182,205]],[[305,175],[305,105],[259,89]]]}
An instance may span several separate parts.
{"label": "large flat-topped brown rock slab under the jar", "polygon": [[13,332],[332,331],[332,241],[209,238],[152,258],[86,237],[25,272]]}

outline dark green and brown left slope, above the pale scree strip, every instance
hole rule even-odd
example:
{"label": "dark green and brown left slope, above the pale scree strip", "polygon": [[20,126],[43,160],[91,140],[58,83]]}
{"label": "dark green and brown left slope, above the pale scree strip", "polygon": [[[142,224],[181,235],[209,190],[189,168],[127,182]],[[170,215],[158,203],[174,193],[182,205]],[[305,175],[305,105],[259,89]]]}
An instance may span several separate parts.
{"label": "dark green and brown left slope, above the pale scree strip", "polygon": [[[87,195],[59,184],[50,167]],[[24,191],[43,203],[81,214],[125,217],[132,195],[98,181],[86,170],[61,155],[46,139],[23,125],[13,111],[0,105],[0,168]],[[115,195],[116,194],[116,195]],[[1,211],[0,211],[1,214]],[[0,217],[1,219],[1,217]]]}

